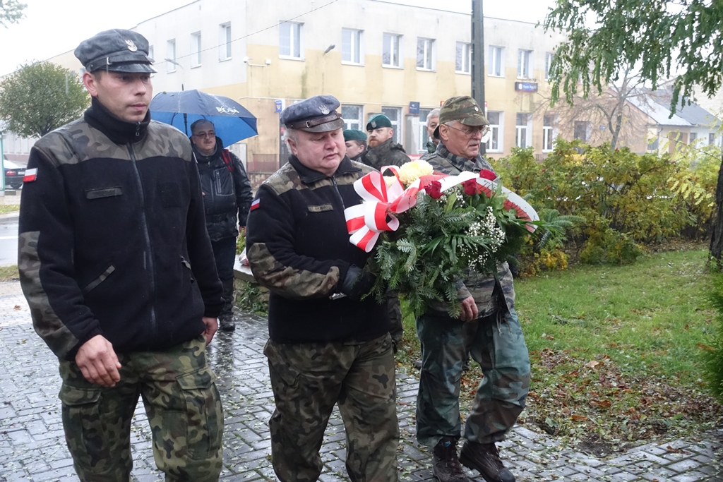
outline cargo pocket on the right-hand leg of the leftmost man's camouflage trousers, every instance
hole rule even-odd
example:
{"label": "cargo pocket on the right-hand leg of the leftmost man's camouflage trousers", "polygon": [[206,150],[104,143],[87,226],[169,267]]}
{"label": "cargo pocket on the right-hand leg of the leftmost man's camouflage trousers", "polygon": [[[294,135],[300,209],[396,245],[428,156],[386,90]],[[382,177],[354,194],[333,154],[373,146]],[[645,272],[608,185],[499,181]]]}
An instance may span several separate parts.
{"label": "cargo pocket on the right-hand leg of the leftmost man's camouflage trousers", "polygon": [[186,442],[191,458],[215,455],[221,449],[223,413],[221,396],[208,366],[176,377],[186,404]]}

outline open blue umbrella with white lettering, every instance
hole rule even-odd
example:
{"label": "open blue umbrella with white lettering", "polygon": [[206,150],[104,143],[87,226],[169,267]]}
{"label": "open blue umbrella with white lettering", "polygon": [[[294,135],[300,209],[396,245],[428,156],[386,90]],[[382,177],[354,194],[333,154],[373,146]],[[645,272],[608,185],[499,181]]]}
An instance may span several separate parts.
{"label": "open blue umbrella with white lettering", "polygon": [[191,124],[199,119],[213,122],[223,147],[258,134],[256,118],[235,100],[200,90],[161,92],[150,101],[150,118],[171,124],[191,135]]}

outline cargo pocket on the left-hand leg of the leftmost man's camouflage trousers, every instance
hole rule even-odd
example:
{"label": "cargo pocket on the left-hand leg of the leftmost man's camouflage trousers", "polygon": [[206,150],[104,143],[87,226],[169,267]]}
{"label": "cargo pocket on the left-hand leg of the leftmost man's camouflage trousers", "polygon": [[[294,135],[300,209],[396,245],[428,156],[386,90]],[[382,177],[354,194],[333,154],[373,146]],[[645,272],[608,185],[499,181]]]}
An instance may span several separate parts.
{"label": "cargo pocket on the left-hand leg of the leftmost man's camouflage trousers", "polygon": [[98,408],[101,390],[63,384],[59,394],[68,449],[86,470],[102,470],[109,459],[106,426]]}

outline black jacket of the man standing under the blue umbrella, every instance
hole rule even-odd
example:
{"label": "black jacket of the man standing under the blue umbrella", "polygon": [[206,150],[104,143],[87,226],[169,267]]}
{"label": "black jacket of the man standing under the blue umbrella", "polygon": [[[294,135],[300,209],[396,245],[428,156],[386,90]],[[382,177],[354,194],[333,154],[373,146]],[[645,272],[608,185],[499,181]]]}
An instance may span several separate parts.
{"label": "black jacket of the man standing under the blue umbrella", "polygon": [[[223,149],[223,142],[218,136],[213,154],[203,155],[195,145],[193,151],[201,176],[208,236],[211,241],[239,236],[236,225],[246,225],[253,200],[244,165],[236,155]],[[223,160],[223,154],[228,156],[230,163]]]}

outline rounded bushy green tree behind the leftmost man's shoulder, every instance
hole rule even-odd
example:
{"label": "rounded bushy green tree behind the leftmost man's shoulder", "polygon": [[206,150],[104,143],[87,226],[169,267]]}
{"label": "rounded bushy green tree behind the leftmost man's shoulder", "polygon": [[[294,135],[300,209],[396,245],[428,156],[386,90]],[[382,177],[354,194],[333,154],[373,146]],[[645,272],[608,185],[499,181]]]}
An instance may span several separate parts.
{"label": "rounded bushy green tree behind the leftmost man's shoulder", "polygon": [[90,95],[77,75],[52,62],[21,66],[0,82],[0,119],[10,132],[43,137],[80,117]]}

